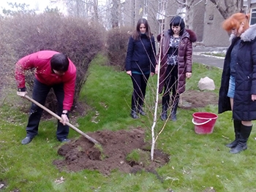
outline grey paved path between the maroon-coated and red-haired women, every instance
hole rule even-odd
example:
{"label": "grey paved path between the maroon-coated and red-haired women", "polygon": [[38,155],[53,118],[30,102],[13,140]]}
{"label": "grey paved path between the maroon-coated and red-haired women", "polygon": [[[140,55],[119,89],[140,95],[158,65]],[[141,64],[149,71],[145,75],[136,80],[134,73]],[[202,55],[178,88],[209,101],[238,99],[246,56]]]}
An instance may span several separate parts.
{"label": "grey paved path between the maroon-coated and red-haired women", "polygon": [[224,58],[214,57],[210,55],[203,55],[203,53],[211,52],[223,52],[227,50],[227,47],[193,47],[192,61],[195,63],[206,64],[208,66],[216,66],[222,69],[224,64]]}

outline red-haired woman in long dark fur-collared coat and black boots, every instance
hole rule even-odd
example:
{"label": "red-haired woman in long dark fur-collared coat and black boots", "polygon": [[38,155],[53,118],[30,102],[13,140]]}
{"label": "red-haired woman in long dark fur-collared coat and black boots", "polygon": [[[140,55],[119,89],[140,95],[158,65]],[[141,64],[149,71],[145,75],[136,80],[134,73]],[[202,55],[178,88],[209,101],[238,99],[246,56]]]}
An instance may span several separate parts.
{"label": "red-haired woman in long dark fur-collared coat and black boots", "polygon": [[219,113],[232,110],[236,139],[226,146],[230,153],[239,153],[246,150],[256,120],[256,25],[249,27],[249,16],[236,13],[223,28],[232,31],[234,38],[223,66]]}

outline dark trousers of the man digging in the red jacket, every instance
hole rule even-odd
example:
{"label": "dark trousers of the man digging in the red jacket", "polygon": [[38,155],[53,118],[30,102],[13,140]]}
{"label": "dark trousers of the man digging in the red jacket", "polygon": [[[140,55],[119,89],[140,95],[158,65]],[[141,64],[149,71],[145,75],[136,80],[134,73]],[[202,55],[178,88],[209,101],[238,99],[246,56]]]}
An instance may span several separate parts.
{"label": "dark trousers of the man digging in the red jacket", "polygon": [[[61,116],[63,110],[63,101],[64,101],[64,85],[58,84],[53,86],[48,86],[42,84],[38,80],[34,80],[34,89],[32,98],[44,105],[46,97],[50,91],[50,88],[53,88],[53,91],[56,95],[56,99],[58,101],[58,112],[57,114]],[[38,134],[38,126],[39,121],[42,116],[42,108],[38,107],[36,104],[32,103],[30,115],[29,115],[29,123],[26,126],[26,136],[27,137],[35,137]],[[69,134],[69,126],[64,126],[58,120],[58,127],[56,131],[56,137],[59,140],[66,139]]]}

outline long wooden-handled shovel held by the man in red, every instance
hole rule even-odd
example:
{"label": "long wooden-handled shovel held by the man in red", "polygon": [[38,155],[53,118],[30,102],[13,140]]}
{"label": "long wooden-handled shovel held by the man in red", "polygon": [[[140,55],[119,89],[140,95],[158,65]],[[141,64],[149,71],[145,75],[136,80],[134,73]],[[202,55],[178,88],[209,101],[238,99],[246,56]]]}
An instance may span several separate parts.
{"label": "long wooden-handled shovel held by the man in red", "polygon": [[[37,104],[38,107],[41,107],[43,110],[45,110],[46,112],[50,113],[50,115],[53,115],[53,117],[57,118],[58,120],[62,120],[61,117],[59,115],[57,115],[56,113],[52,112],[51,110],[49,110],[48,108],[46,108],[45,106],[43,106],[42,104],[39,104],[39,102],[35,101],[34,99],[31,99],[29,96],[25,95],[24,96],[26,99],[28,99],[29,101],[33,102],[34,104]],[[72,129],[74,129],[75,131],[77,131],[79,134],[83,135],[84,137],[86,137],[86,139],[89,139],[90,142],[93,142],[94,144],[99,144],[99,142],[97,142],[97,140],[89,137],[89,135],[83,133],[83,131],[80,131],[78,128],[76,128],[75,126],[72,126],[72,124],[70,124],[69,122],[66,123],[67,126],[71,127]]]}

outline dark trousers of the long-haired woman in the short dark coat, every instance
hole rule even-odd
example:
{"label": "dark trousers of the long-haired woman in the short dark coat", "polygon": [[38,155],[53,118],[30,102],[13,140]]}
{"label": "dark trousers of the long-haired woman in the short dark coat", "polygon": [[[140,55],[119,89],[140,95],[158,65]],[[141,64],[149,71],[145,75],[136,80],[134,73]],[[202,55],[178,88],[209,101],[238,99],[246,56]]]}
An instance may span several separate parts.
{"label": "dark trousers of the long-haired woman in the short dark coat", "polygon": [[132,73],[132,108],[143,107],[149,74]]}

